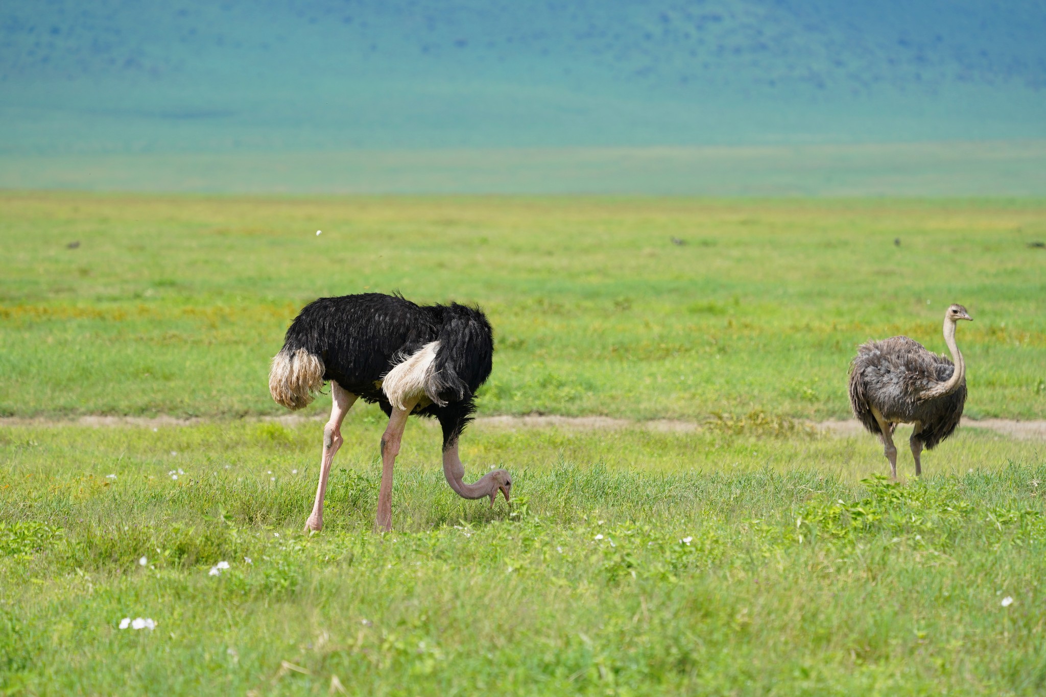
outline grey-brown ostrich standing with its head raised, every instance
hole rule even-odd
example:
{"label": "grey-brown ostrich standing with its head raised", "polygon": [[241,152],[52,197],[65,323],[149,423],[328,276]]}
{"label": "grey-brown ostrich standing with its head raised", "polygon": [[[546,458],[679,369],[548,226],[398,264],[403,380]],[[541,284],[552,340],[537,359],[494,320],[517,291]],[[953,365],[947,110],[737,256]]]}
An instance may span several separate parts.
{"label": "grey-brown ostrich standing with its head raised", "polygon": [[897,478],[896,424],[915,424],[909,443],[916,477],[923,473],[923,446],[933,449],[959,424],[967,401],[967,364],[955,346],[955,323],[959,320],[973,318],[962,305],[952,305],[945,312],[945,343],[954,364],[908,336],[862,344],[850,364],[854,416],[870,433],[882,436],[893,479]]}

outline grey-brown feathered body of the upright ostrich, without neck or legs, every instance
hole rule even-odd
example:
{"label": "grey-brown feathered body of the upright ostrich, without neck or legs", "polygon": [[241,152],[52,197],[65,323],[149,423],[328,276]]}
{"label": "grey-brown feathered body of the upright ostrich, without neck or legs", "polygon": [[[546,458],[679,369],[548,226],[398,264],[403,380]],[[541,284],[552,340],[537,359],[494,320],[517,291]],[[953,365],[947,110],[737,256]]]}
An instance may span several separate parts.
{"label": "grey-brown feathered body of the upright ostrich, without neck or legs", "polygon": [[952,435],[967,401],[967,381],[951,394],[920,400],[918,396],[955,372],[952,362],[908,336],[868,342],[850,364],[850,406],[864,427],[880,434],[872,406],[891,423],[922,424],[918,438],[932,449]]}

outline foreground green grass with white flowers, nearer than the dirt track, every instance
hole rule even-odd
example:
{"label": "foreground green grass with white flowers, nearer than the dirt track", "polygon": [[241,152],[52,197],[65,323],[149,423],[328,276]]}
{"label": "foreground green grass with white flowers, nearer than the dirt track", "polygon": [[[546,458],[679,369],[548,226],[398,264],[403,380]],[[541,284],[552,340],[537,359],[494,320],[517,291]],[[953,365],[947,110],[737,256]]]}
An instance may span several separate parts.
{"label": "foreground green grass with white flowers, nearer than the dirt track", "polygon": [[[510,467],[510,512],[457,498],[436,465],[438,431],[412,422],[396,532],[376,536],[377,416],[346,423],[313,537],[299,531],[316,423],[4,428],[0,686],[1046,689],[1041,443],[964,429],[927,456],[925,482],[894,486],[872,477],[886,467],[870,438],[477,427],[463,441],[469,477]],[[229,570],[210,576],[219,561]],[[118,628],[136,617],[159,624]]]}

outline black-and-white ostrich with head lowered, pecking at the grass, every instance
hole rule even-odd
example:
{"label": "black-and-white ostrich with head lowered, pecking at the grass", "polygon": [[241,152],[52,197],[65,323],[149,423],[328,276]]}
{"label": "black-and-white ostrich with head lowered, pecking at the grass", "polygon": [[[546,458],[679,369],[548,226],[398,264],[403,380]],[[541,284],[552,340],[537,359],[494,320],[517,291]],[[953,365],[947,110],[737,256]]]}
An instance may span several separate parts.
{"label": "black-and-white ostrich with head lowered, pecking at the grass", "polygon": [[323,526],[323,495],[334,454],[341,447],[341,422],[357,398],[378,402],[389,416],[382,436],[382,486],[378,530],[392,529],[392,466],[407,417],[434,416],[444,432],[444,475],[462,498],[498,491],[508,501],[513,481],[504,469],[475,484],[462,482],[458,437],[476,411],[476,390],[491,374],[494,335],[478,307],[457,303],[419,306],[400,296],[367,293],[320,298],[305,305],[287,330],[272,359],[269,391],[291,410],[313,400],[331,382],[334,404],[323,428],[323,457],[309,530]]}

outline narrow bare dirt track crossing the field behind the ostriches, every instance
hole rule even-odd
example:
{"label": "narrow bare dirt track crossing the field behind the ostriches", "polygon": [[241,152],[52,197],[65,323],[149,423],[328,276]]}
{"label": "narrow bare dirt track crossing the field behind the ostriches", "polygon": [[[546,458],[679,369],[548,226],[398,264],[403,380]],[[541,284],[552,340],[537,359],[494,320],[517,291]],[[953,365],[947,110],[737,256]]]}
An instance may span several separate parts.
{"label": "narrow bare dirt track crossing the field behind the ostriches", "polygon": [[[301,417],[294,414],[278,417],[256,417],[252,420],[276,421],[279,423],[293,424],[303,421],[322,421],[324,417]],[[72,423],[87,426],[184,426],[198,423],[207,423],[215,419],[187,418],[180,419],[173,416],[82,416],[77,419],[55,420],[55,419],[23,419],[18,417],[0,418],[0,426],[19,425],[60,425]],[[810,425],[829,433],[835,436],[847,437],[859,436],[864,433],[860,422],[855,420],[846,421],[819,421],[809,422]],[[629,419],[615,419],[609,416],[484,416],[476,419],[476,425],[491,428],[571,428],[577,431],[600,431],[615,428],[644,428],[646,431],[661,433],[692,433],[702,429],[702,424],[697,421],[682,421],[673,419],[657,419],[653,421],[632,421]],[[1016,438],[1019,440],[1046,440],[1046,420],[1041,421],[1017,421],[1014,419],[962,419],[962,427],[965,428],[986,428],[998,434]]]}

